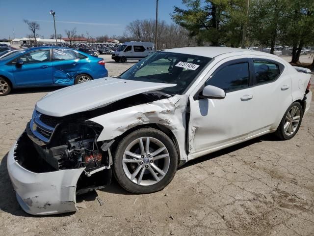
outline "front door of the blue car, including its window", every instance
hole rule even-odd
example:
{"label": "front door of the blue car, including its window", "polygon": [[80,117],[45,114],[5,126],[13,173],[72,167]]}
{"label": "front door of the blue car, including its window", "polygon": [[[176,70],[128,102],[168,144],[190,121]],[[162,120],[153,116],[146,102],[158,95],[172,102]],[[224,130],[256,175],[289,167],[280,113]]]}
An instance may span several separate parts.
{"label": "front door of the blue car, including its window", "polygon": [[[11,64],[14,64],[13,73],[17,86],[39,86],[52,84],[52,62],[50,59],[50,49],[37,50],[26,53]],[[22,60],[23,65],[16,62]]]}

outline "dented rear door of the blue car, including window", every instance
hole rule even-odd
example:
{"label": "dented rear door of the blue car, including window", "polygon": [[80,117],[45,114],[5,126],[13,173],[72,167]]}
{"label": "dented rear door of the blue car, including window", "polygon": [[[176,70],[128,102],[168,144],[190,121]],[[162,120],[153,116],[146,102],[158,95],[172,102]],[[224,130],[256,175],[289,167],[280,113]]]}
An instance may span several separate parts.
{"label": "dented rear door of the blue car, including window", "polygon": [[53,83],[69,83],[80,72],[78,53],[71,49],[52,49]]}

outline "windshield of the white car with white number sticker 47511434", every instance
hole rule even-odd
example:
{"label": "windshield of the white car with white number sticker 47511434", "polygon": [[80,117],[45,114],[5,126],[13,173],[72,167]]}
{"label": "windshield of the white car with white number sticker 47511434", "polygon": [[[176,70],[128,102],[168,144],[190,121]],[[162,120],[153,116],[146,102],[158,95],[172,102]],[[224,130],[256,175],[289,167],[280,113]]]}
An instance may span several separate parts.
{"label": "windshield of the white car with white number sticker 47511434", "polygon": [[157,52],[139,61],[118,78],[176,84],[161,91],[171,95],[183,94],[210,60],[195,55]]}

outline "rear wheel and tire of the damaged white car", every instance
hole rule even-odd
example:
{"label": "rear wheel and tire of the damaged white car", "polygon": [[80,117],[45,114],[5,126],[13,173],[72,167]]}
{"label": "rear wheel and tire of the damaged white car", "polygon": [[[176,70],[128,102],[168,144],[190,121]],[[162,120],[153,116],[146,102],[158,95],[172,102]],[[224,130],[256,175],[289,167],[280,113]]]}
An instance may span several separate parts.
{"label": "rear wheel and tire of the damaged white car", "polygon": [[292,139],[298,132],[303,118],[303,109],[299,102],[292,103],[282,118],[275,134],[281,140]]}

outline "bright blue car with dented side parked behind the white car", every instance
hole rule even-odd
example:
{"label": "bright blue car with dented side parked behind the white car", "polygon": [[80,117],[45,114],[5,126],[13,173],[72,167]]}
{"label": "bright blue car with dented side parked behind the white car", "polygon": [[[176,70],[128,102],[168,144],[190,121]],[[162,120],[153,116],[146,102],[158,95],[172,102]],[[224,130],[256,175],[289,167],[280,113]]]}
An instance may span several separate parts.
{"label": "bright blue car with dented side parked behind the white car", "polygon": [[12,88],[69,86],[108,76],[105,61],[61,47],[34,47],[0,59],[0,96]]}

